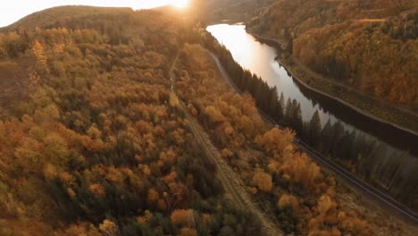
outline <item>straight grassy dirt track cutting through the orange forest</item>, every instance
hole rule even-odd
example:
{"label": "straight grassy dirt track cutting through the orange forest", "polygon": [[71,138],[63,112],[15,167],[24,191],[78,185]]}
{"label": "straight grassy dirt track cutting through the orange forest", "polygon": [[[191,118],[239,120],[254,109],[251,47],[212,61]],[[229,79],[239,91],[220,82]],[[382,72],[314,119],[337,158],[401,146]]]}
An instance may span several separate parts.
{"label": "straight grassy dirt track cutting through the orange forest", "polygon": [[[173,91],[175,91],[174,69],[178,58],[179,55],[176,55],[171,63],[170,69],[171,89],[173,89]],[[179,108],[185,114],[190,131],[192,131],[197,143],[205,151],[206,156],[211,158],[213,163],[216,165],[217,177],[220,179],[222,187],[225,190],[225,197],[229,198],[236,206],[246,209],[248,212],[255,215],[261,224],[263,235],[284,235],[277,225],[263,213],[263,210],[255,204],[251,196],[247,193],[246,185],[238,174],[235,173],[230,165],[222,158],[219,150],[213,146],[213,143],[205,129],[200,125],[196,118],[188,112],[186,105],[184,105],[180,98],[179,101]]]}

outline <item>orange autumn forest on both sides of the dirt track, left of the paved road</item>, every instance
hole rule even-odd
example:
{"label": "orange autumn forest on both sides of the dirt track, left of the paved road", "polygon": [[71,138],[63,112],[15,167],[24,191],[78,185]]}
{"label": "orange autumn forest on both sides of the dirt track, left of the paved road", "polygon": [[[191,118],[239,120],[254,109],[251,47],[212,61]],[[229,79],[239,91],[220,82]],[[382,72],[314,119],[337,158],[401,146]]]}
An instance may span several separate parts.
{"label": "orange autumn forest on both sides of the dirt track, left of the paved road", "polygon": [[240,194],[282,232],[414,235],[360,205],[297,150],[293,131],[268,127],[207,50],[233,64],[228,51],[180,22],[73,6],[0,34],[0,235],[263,234],[224,188],[195,120]]}

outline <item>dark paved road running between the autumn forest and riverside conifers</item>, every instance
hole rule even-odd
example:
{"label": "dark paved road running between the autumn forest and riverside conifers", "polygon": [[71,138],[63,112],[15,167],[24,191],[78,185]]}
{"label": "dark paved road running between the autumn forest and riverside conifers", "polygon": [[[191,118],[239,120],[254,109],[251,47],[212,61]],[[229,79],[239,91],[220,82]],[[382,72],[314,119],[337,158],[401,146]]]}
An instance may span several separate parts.
{"label": "dark paved road running between the autumn forest and riverside conifers", "polygon": [[[209,54],[212,56],[213,61],[218,66],[218,69],[222,75],[222,78],[228,83],[230,88],[234,89],[238,94],[242,95],[242,91],[238,89],[238,87],[234,84],[232,80],[230,80],[228,73],[223,68],[218,57],[214,55],[212,52],[209,52]],[[260,116],[263,118],[264,122],[267,122],[272,126],[279,127],[279,124],[277,122],[274,122],[274,120],[272,120],[272,118],[269,117],[267,114],[263,113],[263,111],[258,109],[258,112]],[[381,192],[380,190],[377,190],[376,188],[372,187],[367,182],[355,177],[354,174],[349,173],[346,169],[339,166],[339,164],[336,164],[330,159],[328,159],[327,157],[322,156],[321,153],[317,152],[313,147],[310,147],[309,145],[307,145],[304,141],[300,139],[296,139],[294,141],[294,144],[297,145],[297,147],[299,147],[301,150],[305,151],[305,153],[308,154],[308,156],[310,156],[314,160],[314,162],[316,162],[317,164],[326,166],[332,172],[339,175],[339,177],[351,183],[356,188],[363,190],[364,193],[366,193],[367,195],[379,200],[381,203],[385,204],[386,206],[391,207],[392,209],[397,211],[399,214],[404,215],[406,218],[413,221],[414,223],[418,223],[418,215],[414,213],[412,209],[399,203],[396,199],[391,198],[389,195]]]}

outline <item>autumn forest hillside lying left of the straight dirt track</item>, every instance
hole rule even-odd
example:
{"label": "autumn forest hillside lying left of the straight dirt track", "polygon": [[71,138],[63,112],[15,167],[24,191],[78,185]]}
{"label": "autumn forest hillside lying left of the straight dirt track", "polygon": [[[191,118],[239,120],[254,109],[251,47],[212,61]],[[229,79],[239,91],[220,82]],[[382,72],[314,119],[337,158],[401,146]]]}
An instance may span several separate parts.
{"label": "autumn forest hillside lying left of the straight dirt track", "polygon": [[257,234],[171,105],[175,22],[72,10],[0,36],[0,234]]}

